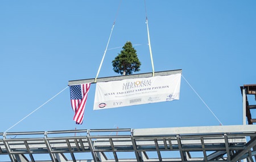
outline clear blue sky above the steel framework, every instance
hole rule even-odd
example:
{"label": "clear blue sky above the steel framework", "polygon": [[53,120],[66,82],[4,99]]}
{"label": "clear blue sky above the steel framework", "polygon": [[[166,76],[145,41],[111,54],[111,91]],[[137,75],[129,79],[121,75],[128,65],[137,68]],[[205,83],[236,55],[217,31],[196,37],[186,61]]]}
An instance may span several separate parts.
{"label": "clear blue sky above the steel framework", "polygon": [[[0,1],[0,132],[67,87],[94,78],[120,1]],[[242,124],[240,86],[256,83],[256,1],[146,1],[155,71],[182,69],[223,125]],[[144,1],[122,1],[109,49],[131,41],[152,72]],[[99,77],[117,76],[108,50]],[[90,88],[82,125],[69,89],[9,131],[219,125],[181,78],[180,100],[94,110]],[[255,101],[254,101],[255,103]],[[252,103],[252,104],[254,104]]]}

